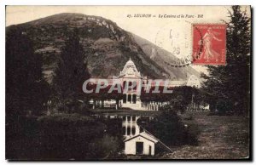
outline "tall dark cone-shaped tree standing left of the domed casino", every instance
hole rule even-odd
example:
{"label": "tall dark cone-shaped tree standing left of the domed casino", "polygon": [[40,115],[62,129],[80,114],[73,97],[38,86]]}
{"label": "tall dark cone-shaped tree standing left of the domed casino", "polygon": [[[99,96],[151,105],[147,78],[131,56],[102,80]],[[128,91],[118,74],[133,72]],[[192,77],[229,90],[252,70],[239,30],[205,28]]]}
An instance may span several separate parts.
{"label": "tall dark cone-shaped tree standing left of the domed casino", "polygon": [[78,111],[78,101],[86,104],[88,99],[82,86],[90,78],[85,62],[84,48],[79,43],[79,31],[70,32],[65,46],[61,48],[61,58],[55,71],[53,85],[55,100],[62,111]]}

